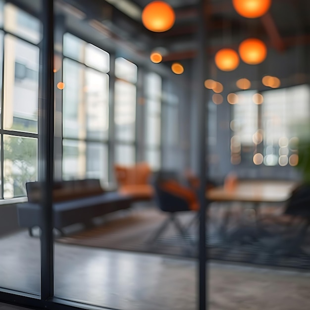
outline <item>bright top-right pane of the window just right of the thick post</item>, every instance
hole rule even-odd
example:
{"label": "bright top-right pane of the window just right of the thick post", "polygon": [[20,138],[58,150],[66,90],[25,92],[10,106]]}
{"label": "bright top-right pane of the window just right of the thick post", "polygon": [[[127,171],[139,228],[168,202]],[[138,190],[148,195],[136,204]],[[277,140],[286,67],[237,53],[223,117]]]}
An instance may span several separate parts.
{"label": "bright top-right pane of the window just right of the thick post", "polygon": [[86,45],[85,64],[103,72],[110,70],[110,55],[92,44]]}

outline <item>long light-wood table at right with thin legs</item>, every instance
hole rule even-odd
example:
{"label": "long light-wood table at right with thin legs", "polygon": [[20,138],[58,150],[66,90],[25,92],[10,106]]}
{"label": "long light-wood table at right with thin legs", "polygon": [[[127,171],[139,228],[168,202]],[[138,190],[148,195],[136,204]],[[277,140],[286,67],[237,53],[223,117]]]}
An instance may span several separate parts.
{"label": "long light-wood table at right with thin legs", "polygon": [[[293,189],[298,185],[294,181],[279,180],[238,180],[234,186],[218,186],[206,191],[207,200],[217,203],[240,203],[240,206],[248,207],[255,211],[255,223],[252,225],[258,228],[259,207],[263,204],[280,204],[283,206],[291,196]],[[231,217],[230,206],[225,212],[222,224],[219,228],[219,235],[226,239],[228,235],[228,223]],[[241,222],[241,225],[244,223]]]}

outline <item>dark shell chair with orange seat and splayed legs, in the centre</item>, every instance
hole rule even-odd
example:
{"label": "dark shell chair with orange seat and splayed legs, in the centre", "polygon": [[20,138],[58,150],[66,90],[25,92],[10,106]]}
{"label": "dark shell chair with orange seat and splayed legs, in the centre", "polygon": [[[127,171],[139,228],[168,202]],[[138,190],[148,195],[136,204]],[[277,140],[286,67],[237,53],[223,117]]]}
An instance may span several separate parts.
{"label": "dark shell chair with orange seat and splayed legs, in the centre", "polygon": [[167,212],[168,217],[155,231],[149,242],[154,243],[170,223],[174,225],[184,240],[188,240],[188,227],[184,227],[181,224],[176,214],[178,212],[197,211],[199,209],[195,192],[182,185],[177,180],[176,174],[171,172],[157,173],[152,180],[152,184],[155,191],[156,205],[163,212]]}

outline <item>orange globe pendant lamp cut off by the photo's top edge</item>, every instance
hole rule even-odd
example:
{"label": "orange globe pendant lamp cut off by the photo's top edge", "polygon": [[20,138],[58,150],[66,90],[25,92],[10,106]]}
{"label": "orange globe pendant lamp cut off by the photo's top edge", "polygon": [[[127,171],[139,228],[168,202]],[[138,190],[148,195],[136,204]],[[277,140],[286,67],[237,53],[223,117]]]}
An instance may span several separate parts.
{"label": "orange globe pendant lamp cut off by the photo's top edge", "polygon": [[247,18],[257,18],[264,15],[271,0],[232,0],[233,6],[238,14]]}

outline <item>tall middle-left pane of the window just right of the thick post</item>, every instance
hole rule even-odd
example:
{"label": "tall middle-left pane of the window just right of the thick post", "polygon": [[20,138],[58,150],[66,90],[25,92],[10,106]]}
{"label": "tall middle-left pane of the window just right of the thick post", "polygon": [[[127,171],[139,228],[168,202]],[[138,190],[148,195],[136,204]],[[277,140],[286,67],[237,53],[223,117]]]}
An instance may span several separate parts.
{"label": "tall middle-left pane of the window just right of the thick post", "polygon": [[85,68],[83,65],[65,58],[63,60],[63,136],[85,138],[85,111],[83,100]]}

